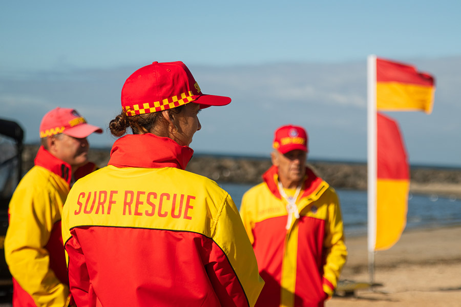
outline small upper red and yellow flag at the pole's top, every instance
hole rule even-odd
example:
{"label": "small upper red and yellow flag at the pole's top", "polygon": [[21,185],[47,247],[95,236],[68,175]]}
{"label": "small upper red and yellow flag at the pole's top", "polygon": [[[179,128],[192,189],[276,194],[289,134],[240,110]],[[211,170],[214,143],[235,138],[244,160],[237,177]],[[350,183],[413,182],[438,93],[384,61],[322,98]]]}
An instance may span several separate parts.
{"label": "small upper red and yellow flag at the pole's top", "polygon": [[376,58],[376,107],[380,111],[432,112],[434,77],[416,68]]}

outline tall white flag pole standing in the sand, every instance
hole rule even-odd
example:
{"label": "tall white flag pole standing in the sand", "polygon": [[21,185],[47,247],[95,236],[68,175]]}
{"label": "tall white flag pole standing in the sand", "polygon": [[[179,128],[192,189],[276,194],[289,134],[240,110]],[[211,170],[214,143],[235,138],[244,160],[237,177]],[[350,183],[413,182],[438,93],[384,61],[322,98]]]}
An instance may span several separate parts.
{"label": "tall white flag pole standing in the sand", "polygon": [[367,58],[368,273],[374,283],[376,246],[376,56]]}

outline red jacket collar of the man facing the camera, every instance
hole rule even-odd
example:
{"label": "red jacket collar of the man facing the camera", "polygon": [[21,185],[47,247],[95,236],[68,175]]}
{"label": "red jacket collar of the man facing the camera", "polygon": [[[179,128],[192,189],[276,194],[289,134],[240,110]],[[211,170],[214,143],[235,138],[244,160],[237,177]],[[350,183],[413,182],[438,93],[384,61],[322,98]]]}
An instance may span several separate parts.
{"label": "red jacket collar of the man facing the camera", "polygon": [[[276,196],[278,199],[282,199],[282,196],[279,192],[278,187],[278,167],[271,166],[262,176],[264,182],[269,188],[270,192]],[[308,167],[306,167],[306,176],[304,177],[303,188],[300,198],[311,195],[312,193],[319,194],[323,193],[324,190],[328,187],[328,184],[322,180],[322,178],[317,177],[317,175]],[[320,194],[321,194],[320,193]],[[319,194],[319,195],[320,195]]]}

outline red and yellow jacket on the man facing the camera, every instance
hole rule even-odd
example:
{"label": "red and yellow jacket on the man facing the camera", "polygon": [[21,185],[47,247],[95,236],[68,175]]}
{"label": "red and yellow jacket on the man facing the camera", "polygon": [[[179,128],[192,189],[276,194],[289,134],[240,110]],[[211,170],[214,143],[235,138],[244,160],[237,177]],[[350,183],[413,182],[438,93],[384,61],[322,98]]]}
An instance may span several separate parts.
{"label": "red and yellow jacket on the man facing the camera", "polygon": [[300,218],[287,230],[287,202],[278,190],[277,167],[248,190],[240,214],[265,281],[257,306],[323,306],[346,261],[336,192],[309,168],[296,202]]}

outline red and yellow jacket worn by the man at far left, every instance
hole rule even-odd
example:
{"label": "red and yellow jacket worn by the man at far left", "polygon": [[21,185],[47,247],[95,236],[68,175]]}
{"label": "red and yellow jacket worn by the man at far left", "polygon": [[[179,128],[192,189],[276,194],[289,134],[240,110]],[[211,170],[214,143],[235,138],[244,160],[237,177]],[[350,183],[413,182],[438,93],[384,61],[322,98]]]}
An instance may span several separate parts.
{"label": "red and yellow jacket worn by the man at far left", "polygon": [[[13,276],[14,306],[67,306],[70,302],[61,212],[71,167],[43,146],[10,201],[5,259]],[[94,170],[88,163],[80,176]]]}

